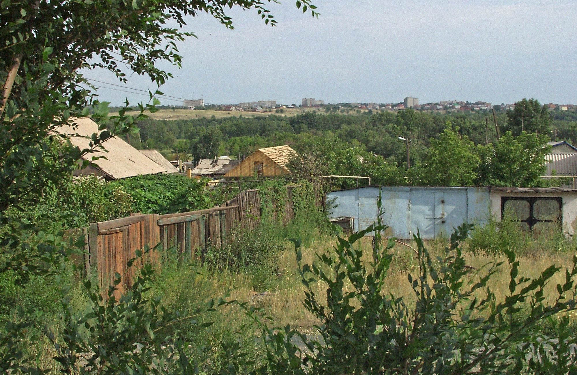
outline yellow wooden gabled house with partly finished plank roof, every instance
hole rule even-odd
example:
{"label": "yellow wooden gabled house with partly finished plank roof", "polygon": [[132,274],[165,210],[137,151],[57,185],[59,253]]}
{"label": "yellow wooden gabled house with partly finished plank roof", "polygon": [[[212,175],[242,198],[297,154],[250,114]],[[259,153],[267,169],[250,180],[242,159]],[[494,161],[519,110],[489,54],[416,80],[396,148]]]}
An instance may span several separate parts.
{"label": "yellow wooden gabled house with partly finished plank roof", "polygon": [[226,174],[225,178],[251,177],[255,173],[262,177],[276,177],[289,173],[288,160],[297,152],[287,146],[259,148],[242,160],[234,169]]}

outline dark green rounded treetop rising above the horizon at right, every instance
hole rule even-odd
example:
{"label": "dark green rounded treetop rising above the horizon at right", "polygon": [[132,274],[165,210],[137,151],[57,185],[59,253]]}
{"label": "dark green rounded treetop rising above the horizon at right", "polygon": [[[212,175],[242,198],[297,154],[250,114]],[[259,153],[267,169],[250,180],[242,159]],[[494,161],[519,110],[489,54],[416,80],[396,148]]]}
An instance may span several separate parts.
{"label": "dark green rounded treetop rising above the horizon at right", "polygon": [[541,106],[536,99],[523,99],[515,103],[514,109],[507,111],[507,124],[503,132],[511,131],[518,136],[521,132],[549,135],[551,115],[546,105]]}

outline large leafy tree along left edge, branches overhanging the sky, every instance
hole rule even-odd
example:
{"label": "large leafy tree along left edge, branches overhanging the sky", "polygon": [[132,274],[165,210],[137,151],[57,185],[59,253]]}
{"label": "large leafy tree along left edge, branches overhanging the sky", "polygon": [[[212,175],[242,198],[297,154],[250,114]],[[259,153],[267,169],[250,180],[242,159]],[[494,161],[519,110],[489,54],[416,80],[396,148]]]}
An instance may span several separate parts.
{"label": "large leafy tree along left edge, branches overhanging the sky", "polygon": [[[271,0],[267,0],[271,1]],[[108,103],[98,101],[94,86],[81,69],[104,68],[126,81],[126,70],[148,76],[160,86],[170,73],[160,61],[181,66],[177,42],[194,36],[181,28],[198,13],[215,17],[233,28],[227,7],[254,10],[265,24],[276,21],[258,0],[5,0],[0,7],[0,275],[10,272],[24,285],[33,274],[61,270],[62,255],[70,246],[46,234],[37,224],[13,215],[21,206],[40,201],[47,186],[77,166],[83,155],[94,152],[115,135],[134,133],[134,122],[159,104],[150,93],[140,113],[108,116]],[[316,16],[309,0],[297,1],[304,12]],[[122,67],[122,69],[121,69]],[[85,150],[56,136],[73,118],[91,117],[99,125]],[[63,143],[53,152],[55,141]],[[88,162],[82,166],[87,166]],[[0,332],[0,368],[16,373],[33,366],[18,348],[26,324],[6,324]],[[145,322],[140,322],[144,326]],[[38,328],[38,327],[37,327]],[[78,328],[78,327],[73,327]],[[33,330],[31,330],[33,331]],[[149,331],[150,332],[150,331]],[[63,340],[58,338],[59,342]],[[96,358],[96,357],[95,357]],[[183,359],[181,357],[181,359]],[[124,370],[110,373],[125,372]],[[39,371],[36,371],[39,373]]]}

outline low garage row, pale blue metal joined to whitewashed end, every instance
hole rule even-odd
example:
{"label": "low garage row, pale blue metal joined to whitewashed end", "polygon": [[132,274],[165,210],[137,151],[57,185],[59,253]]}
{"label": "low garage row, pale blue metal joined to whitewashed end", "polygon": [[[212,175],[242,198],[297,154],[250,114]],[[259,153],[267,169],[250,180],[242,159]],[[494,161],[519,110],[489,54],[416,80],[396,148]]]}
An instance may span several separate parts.
{"label": "low garage row, pale blue metal joined to whitewashed end", "polygon": [[327,194],[334,207],[329,217],[354,218],[355,231],[377,221],[381,192],[381,219],[387,234],[409,239],[420,232],[424,239],[447,238],[463,223],[485,225],[490,217],[515,213],[525,229],[535,232],[562,225],[573,235],[577,217],[577,190],[489,186],[366,186]]}

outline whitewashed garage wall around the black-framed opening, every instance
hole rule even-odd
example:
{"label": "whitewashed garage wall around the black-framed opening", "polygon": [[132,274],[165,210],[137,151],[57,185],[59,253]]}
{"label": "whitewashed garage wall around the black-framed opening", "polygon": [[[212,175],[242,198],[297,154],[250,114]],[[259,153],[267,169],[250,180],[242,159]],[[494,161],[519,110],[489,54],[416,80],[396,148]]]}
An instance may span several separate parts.
{"label": "whitewashed garage wall around the black-framed opening", "polygon": [[496,190],[490,192],[491,214],[497,221],[501,221],[501,197],[561,197],[563,200],[563,231],[567,235],[574,235],[577,229],[577,192],[564,193],[506,193]]}

